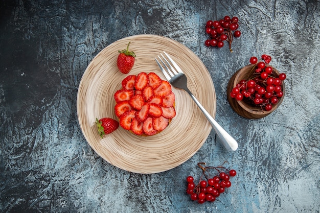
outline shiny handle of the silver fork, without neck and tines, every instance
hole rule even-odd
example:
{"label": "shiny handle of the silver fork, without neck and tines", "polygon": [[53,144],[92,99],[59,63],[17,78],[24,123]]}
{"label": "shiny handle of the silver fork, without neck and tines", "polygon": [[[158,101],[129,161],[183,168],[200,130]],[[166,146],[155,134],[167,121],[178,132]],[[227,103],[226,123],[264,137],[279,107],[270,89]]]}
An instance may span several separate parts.
{"label": "shiny handle of the silver fork, without neck and tines", "polygon": [[188,89],[187,92],[190,94],[193,101],[198,105],[198,107],[203,112],[204,116],[207,117],[208,121],[216,131],[217,135],[219,136],[222,145],[225,147],[228,151],[236,151],[238,149],[238,143],[237,141],[229,134],[227,133],[215,120],[214,118],[209,114],[207,110],[204,109],[204,107],[200,104],[200,102],[194,97],[194,95],[191,93],[191,91]]}

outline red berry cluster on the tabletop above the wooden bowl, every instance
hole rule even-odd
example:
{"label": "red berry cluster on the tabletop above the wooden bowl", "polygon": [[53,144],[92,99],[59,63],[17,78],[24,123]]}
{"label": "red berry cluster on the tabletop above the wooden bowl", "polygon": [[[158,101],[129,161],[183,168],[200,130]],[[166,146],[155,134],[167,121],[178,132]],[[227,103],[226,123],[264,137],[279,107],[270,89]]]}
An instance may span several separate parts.
{"label": "red berry cluster on the tabletop above the wooden bowl", "polygon": [[[223,41],[227,41],[229,43],[230,52],[231,43],[233,41],[233,37],[239,37],[241,32],[237,30],[239,28],[238,17],[230,17],[224,16],[223,19],[209,20],[205,25],[205,32],[209,35],[209,38],[204,42],[206,46],[217,46],[218,48],[222,48],[224,45]],[[233,31],[235,31],[233,33]]]}

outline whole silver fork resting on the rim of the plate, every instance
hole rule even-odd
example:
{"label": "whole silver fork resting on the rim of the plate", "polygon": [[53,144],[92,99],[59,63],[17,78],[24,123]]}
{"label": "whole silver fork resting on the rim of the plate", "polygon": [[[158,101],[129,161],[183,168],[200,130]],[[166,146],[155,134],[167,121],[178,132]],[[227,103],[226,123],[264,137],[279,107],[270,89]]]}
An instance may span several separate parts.
{"label": "whole silver fork resting on the rim of the plate", "polygon": [[163,74],[167,78],[167,80],[176,88],[184,89],[186,90],[193,101],[198,105],[198,107],[201,109],[205,117],[207,117],[208,121],[216,131],[217,135],[219,136],[222,145],[228,150],[228,151],[236,151],[238,149],[238,143],[237,141],[228,134],[209,114],[207,110],[204,109],[204,107],[200,104],[200,102],[194,97],[194,95],[191,93],[191,91],[187,87],[187,76],[182,72],[180,67],[172,60],[172,58],[164,52],[169,61],[161,54],[163,59],[158,56],[159,60],[163,63],[164,67],[159,63],[159,61],[155,58],[156,62],[158,63],[159,67],[161,68]]}

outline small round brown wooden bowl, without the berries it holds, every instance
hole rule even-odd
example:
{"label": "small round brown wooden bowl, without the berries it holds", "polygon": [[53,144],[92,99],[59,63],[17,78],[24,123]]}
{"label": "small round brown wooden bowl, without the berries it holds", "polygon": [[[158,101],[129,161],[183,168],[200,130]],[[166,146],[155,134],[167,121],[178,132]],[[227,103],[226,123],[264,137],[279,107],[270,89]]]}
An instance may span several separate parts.
{"label": "small round brown wooden bowl, without the berries it holds", "polygon": [[[260,106],[256,105],[251,105],[246,102],[242,101],[237,101],[234,98],[230,97],[230,93],[234,87],[242,80],[242,79],[247,79],[249,72],[252,70],[252,68],[255,66],[255,64],[249,64],[247,66],[242,67],[239,69],[230,79],[227,85],[227,99],[228,102],[230,103],[232,109],[237,112],[239,115],[242,117],[245,117],[246,119],[261,119],[262,117],[265,117],[275,111],[280,104],[282,103],[285,95],[285,85],[284,82],[282,81],[282,91],[283,91],[283,96],[279,99],[278,103],[275,105],[272,105],[272,109],[270,111],[265,111],[262,110]],[[266,66],[269,66],[268,64]],[[272,67],[272,66],[271,66]],[[272,67],[273,71],[275,72],[275,77],[279,76],[279,72],[276,68]]]}

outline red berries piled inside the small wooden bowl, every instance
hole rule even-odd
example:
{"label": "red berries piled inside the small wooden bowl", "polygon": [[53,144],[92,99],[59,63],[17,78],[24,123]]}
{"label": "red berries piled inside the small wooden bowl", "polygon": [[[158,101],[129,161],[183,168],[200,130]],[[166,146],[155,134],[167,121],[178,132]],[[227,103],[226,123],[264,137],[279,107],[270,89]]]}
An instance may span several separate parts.
{"label": "red berries piled inside the small wooden bowl", "polygon": [[250,63],[255,66],[250,71],[249,77],[242,79],[232,89],[230,97],[270,111],[272,106],[277,104],[279,98],[283,96],[281,85],[282,81],[286,79],[286,74],[281,73],[278,76],[272,67],[267,65],[270,61],[271,57],[268,55],[262,55],[259,61],[257,57],[251,57]]}

